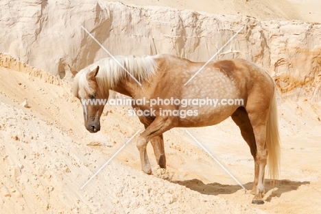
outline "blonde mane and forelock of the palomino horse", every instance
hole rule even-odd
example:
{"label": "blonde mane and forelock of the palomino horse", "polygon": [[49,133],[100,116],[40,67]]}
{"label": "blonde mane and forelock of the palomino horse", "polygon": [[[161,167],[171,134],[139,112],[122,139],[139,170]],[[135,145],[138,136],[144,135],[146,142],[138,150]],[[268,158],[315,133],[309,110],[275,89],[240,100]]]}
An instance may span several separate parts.
{"label": "blonde mane and forelock of the palomino horse", "polygon": [[[116,60],[117,61],[116,61]],[[87,80],[87,75],[91,70],[99,66],[99,71],[96,76],[97,84],[105,97],[108,90],[114,88],[121,79],[128,77],[128,72],[139,82],[144,81],[154,75],[157,70],[157,64],[154,57],[150,55],[143,56],[115,56],[115,59],[110,57],[100,59],[99,61],[84,68],[75,75],[73,79],[73,93],[77,96],[79,88],[84,88],[86,92],[90,92],[91,88]],[[117,63],[121,64],[121,66]]]}

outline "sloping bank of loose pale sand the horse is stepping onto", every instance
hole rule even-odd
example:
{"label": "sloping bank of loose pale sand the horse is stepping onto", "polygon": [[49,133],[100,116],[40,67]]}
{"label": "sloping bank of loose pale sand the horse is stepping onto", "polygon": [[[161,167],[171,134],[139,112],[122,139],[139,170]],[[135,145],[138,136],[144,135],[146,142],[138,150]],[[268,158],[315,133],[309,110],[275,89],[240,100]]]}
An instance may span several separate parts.
{"label": "sloping bank of loose pale sand the horse is stepping onto", "polygon": [[[115,108],[102,120],[105,129],[91,135],[82,126],[82,108],[69,82],[18,67],[0,68],[1,213],[261,212],[143,174],[134,142],[81,190],[141,125]],[[54,81],[46,83],[48,77]],[[25,98],[29,108],[20,105]],[[154,174],[170,176],[157,168]]]}

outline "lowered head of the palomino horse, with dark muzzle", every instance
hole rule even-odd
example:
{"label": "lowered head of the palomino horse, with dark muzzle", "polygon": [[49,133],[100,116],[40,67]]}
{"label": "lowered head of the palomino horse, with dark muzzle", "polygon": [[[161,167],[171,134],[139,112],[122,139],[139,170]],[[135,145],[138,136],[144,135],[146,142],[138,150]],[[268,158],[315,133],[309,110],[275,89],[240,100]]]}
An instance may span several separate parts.
{"label": "lowered head of the palomino horse, with dark muzzle", "polygon": [[73,92],[82,102],[84,125],[91,133],[96,133],[100,130],[99,120],[105,104],[105,97],[102,96],[96,80],[98,70],[99,66],[89,72],[79,72],[73,81]]}

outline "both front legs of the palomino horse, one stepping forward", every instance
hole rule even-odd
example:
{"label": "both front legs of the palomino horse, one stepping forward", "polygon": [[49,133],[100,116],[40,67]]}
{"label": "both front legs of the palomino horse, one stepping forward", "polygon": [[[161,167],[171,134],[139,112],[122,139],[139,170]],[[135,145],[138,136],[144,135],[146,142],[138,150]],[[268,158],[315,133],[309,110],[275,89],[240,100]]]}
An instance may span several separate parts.
{"label": "both front legs of the palomino horse, one stepping forward", "polygon": [[[145,131],[143,131],[143,133],[141,133],[141,135],[139,136],[139,139],[137,140],[137,148],[139,149],[139,155],[141,158],[141,169],[146,174],[152,173],[152,170],[150,168],[150,160],[148,159],[148,156],[147,156],[147,150],[146,150],[147,143],[150,140],[152,140],[153,141],[152,144],[156,144],[156,143],[158,144],[158,145],[153,145],[153,147],[154,147],[154,151],[155,151],[155,148],[157,149],[157,151],[155,152],[155,155],[156,155],[156,159],[158,159],[158,164],[160,164],[160,167],[164,168],[164,166],[166,165],[164,149],[159,149],[160,144],[163,145],[163,133],[173,128],[174,126],[176,126],[176,124],[177,124],[177,119],[174,117],[158,116],[150,124],[150,126],[148,126],[145,129]],[[162,136],[162,137],[159,137],[159,136]]]}

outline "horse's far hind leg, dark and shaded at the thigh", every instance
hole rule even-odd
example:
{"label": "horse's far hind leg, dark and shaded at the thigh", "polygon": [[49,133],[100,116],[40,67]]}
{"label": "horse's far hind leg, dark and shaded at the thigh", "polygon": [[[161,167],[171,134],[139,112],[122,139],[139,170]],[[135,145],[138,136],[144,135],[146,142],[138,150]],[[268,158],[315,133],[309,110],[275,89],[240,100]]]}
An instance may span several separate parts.
{"label": "horse's far hind leg, dark and shaded at the thigh", "polygon": [[254,158],[254,185],[251,193],[255,194],[257,191],[257,183],[259,178],[259,165],[257,164],[256,155],[257,155],[257,144],[255,142],[254,132],[252,128],[252,124],[250,119],[248,118],[248,112],[244,107],[239,107],[231,116],[235,124],[239,126],[241,131],[241,135],[243,139],[246,141],[248,146],[250,146],[251,154]]}

